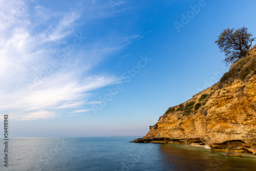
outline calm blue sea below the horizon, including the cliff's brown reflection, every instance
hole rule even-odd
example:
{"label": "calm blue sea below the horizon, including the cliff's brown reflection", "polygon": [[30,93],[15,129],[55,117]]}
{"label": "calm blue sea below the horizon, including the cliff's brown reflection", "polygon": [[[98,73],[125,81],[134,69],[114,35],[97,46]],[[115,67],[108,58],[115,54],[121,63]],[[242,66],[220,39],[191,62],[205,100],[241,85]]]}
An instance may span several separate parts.
{"label": "calm blue sea below the horizon, including the cliff's brown reflection", "polygon": [[136,137],[10,138],[0,170],[256,170],[256,156],[225,157],[190,145],[131,143]]}

